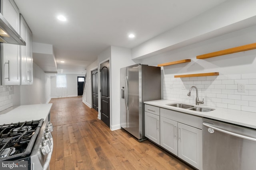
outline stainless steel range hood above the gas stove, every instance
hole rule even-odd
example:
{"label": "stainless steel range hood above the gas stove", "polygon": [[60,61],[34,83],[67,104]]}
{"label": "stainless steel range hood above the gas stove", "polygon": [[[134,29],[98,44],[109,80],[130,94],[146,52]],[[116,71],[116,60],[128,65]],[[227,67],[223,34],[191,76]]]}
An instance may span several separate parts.
{"label": "stainless steel range hood above the gas stove", "polygon": [[0,13],[0,42],[26,45],[26,42],[20,37],[15,29],[8,23],[4,16]]}

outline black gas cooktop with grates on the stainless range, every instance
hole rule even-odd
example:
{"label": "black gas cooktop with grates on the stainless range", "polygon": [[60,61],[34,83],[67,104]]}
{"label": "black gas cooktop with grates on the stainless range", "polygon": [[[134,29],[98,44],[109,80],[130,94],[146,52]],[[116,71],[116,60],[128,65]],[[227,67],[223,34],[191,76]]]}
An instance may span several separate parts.
{"label": "black gas cooktop with grates on the stainless range", "polygon": [[0,161],[30,154],[44,119],[0,125]]}

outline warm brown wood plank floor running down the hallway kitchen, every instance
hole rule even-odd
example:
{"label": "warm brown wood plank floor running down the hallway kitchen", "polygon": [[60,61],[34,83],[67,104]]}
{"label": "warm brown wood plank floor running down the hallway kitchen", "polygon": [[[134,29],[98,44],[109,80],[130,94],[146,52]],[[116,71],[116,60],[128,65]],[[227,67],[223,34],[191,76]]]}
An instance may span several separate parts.
{"label": "warm brown wood plank floor running down the hallway kitchen", "polygon": [[50,170],[192,170],[150,141],[140,143],[122,129],[111,131],[81,97],[50,103],[54,125]]}

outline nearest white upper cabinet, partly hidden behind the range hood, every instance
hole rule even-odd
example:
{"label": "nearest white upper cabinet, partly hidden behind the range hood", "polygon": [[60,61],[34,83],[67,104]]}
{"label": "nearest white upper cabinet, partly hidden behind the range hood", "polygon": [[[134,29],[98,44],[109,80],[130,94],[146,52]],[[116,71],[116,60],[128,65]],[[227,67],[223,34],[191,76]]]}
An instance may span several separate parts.
{"label": "nearest white upper cabinet, partly hidden behind the range hood", "polygon": [[[20,12],[13,0],[1,0],[1,13],[20,32]],[[2,43],[2,85],[20,85],[20,45]]]}

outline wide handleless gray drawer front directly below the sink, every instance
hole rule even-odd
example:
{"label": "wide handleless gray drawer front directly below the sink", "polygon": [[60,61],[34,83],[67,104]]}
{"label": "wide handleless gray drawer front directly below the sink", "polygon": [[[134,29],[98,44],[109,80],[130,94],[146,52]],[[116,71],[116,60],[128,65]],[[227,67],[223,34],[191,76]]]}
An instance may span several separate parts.
{"label": "wide handleless gray drawer front directly below the sink", "polygon": [[202,117],[160,108],[160,116],[202,129]]}

